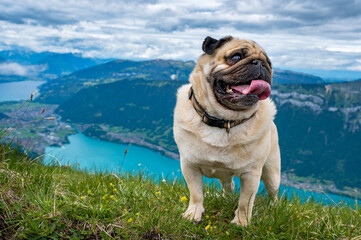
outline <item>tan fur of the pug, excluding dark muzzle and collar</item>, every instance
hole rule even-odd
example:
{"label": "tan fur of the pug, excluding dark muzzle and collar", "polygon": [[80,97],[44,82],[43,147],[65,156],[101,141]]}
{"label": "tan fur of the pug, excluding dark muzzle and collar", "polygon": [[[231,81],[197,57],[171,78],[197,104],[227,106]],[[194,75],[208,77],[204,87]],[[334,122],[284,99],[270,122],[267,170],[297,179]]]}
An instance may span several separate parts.
{"label": "tan fur of the pug, excluding dark muzzle and collar", "polygon": [[[276,197],[280,184],[280,152],[277,129],[273,123],[274,103],[268,98],[246,111],[233,111],[216,100],[206,77],[213,71],[227,68],[224,55],[245,46],[258,55],[263,51],[247,40],[233,39],[212,55],[203,54],[190,76],[191,84],[182,86],[177,93],[174,113],[174,138],[179,148],[182,173],[190,191],[189,207],[184,217],[201,221],[203,208],[202,177],[218,178],[225,192],[233,191],[233,176],[241,179],[239,205],[232,223],[246,226],[260,179],[267,192]],[[247,122],[225,129],[211,127],[201,121],[188,99],[188,90],[194,94],[210,115],[237,120],[256,115]]]}

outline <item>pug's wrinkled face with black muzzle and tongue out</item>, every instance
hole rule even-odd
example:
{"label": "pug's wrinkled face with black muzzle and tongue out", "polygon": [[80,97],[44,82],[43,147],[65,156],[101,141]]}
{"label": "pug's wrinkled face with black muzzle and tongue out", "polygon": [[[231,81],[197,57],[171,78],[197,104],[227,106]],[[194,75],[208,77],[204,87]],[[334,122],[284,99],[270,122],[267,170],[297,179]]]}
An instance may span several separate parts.
{"label": "pug's wrinkled face with black muzzle and tongue out", "polygon": [[271,93],[272,65],[255,42],[225,37],[207,37],[202,46],[210,57],[207,81],[224,107],[242,111],[253,107]]}

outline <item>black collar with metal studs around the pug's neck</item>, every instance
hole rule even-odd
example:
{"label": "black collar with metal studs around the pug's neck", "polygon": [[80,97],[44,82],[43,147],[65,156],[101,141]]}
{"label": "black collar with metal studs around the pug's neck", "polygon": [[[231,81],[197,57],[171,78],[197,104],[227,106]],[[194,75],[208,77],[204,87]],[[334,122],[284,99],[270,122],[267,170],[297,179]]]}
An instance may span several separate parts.
{"label": "black collar with metal studs around the pug's neck", "polygon": [[232,127],[237,126],[239,124],[242,124],[244,122],[247,122],[249,119],[254,117],[254,115],[256,115],[256,112],[254,112],[250,117],[243,118],[241,120],[219,119],[219,118],[216,118],[216,117],[213,117],[213,116],[209,115],[204,110],[204,108],[199,104],[199,102],[196,99],[196,96],[193,93],[193,87],[190,87],[190,89],[188,91],[188,98],[189,98],[189,100],[192,101],[194,109],[196,110],[198,115],[202,118],[202,122],[204,122],[205,124],[207,124],[208,126],[211,126],[211,127],[225,128],[227,133],[229,133],[229,130]]}

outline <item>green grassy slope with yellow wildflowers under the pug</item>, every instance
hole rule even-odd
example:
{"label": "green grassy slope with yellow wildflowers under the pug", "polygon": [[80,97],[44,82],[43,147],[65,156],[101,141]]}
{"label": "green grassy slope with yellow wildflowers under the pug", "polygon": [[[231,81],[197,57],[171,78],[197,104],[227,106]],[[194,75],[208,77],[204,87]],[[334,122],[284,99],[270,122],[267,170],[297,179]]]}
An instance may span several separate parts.
{"label": "green grassy slope with yellow wildflowers under the pug", "polygon": [[189,199],[180,180],[47,167],[0,149],[1,239],[361,239],[360,207],[260,195],[242,228],[229,224],[238,196],[206,185],[205,216],[195,225],[180,217],[188,204],[181,198]]}

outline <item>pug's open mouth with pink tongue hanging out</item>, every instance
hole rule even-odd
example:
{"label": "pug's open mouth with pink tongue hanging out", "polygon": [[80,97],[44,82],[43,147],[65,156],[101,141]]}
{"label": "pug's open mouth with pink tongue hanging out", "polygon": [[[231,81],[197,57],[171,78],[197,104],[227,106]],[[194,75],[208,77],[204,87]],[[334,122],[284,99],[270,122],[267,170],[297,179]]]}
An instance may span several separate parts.
{"label": "pug's open mouth with pink tongue hanging out", "polygon": [[268,98],[271,94],[271,86],[268,82],[262,79],[255,79],[248,84],[229,85],[222,84],[223,90],[231,97],[238,97],[239,95],[256,95],[259,100]]}

